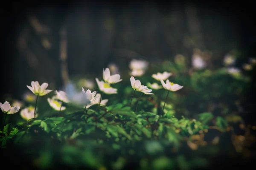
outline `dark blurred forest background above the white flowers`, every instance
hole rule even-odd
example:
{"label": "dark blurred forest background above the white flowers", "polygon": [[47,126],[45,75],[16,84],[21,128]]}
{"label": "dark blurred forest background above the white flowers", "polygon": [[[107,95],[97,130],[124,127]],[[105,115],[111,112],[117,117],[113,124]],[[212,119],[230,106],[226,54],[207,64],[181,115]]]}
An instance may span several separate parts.
{"label": "dark blurred forest background above the white flowers", "polygon": [[212,54],[214,68],[232,50],[254,57],[252,2],[12,3],[1,9],[1,101],[5,94],[20,99],[31,81],[59,88],[111,62],[128,69],[132,58],[182,54],[191,63],[200,49]]}

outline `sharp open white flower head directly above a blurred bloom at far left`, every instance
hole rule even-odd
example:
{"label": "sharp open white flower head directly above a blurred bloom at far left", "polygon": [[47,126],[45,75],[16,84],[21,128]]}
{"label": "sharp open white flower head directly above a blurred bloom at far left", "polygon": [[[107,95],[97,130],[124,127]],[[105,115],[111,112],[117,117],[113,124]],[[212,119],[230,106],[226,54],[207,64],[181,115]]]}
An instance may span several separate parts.
{"label": "sharp open white flower head directly above a blurred bloom at far left", "polygon": [[39,95],[39,96],[44,96],[52,91],[52,90],[46,90],[46,88],[48,87],[48,83],[46,83],[46,82],[44,82],[40,86],[38,81],[36,81],[36,82],[32,81],[31,86],[27,85],[27,87],[29,88],[29,90],[31,90],[33,92],[33,94]]}

